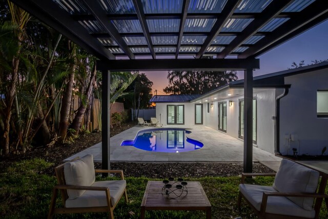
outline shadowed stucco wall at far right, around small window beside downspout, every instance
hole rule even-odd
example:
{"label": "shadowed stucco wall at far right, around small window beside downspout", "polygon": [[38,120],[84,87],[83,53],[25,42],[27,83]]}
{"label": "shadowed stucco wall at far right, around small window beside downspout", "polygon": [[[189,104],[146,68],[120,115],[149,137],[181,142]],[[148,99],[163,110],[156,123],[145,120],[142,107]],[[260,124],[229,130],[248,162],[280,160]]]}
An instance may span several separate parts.
{"label": "shadowed stucco wall at far right, around small window beside downspout", "polygon": [[[291,84],[289,94],[280,100],[280,152],[320,155],[328,147],[328,119],[317,117],[317,90],[328,90],[328,69],[285,78]],[[296,141],[285,140],[285,134],[296,134]],[[327,151],[326,153],[327,154]]]}

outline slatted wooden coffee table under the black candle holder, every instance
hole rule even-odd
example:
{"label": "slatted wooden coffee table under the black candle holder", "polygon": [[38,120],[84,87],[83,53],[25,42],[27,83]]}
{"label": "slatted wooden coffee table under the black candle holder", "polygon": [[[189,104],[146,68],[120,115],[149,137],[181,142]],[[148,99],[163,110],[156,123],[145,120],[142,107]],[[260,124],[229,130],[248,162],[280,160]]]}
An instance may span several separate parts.
{"label": "slatted wooden coffee table under the black candle holder", "polygon": [[211,204],[199,182],[188,182],[188,194],[185,197],[169,198],[162,195],[163,183],[148,181],[141,203],[141,219],[146,210],[200,210],[206,211],[206,218],[211,216]]}

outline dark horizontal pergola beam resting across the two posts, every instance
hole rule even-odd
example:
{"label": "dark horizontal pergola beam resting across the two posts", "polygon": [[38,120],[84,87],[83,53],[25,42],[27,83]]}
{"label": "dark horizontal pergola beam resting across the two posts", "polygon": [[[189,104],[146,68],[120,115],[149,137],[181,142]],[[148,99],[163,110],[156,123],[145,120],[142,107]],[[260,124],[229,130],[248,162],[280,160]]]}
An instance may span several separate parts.
{"label": "dark horizontal pergola beam resting across the two posts", "polygon": [[[147,65],[145,65],[147,63]],[[97,61],[97,70],[244,70],[259,69],[259,59],[120,59]]]}

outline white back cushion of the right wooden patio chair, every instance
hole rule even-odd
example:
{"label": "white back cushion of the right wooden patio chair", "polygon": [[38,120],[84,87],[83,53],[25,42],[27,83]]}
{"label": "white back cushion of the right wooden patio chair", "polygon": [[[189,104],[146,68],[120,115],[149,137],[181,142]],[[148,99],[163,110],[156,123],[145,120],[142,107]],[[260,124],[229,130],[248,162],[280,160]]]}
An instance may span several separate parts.
{"label": "white back cushion of the right wooden patio chair", "polygon": [[[319,172],[295,162],[283,159],[275,177],[273,188],[279,192],[315,193],[319,182]],[[312,210],[314,198],[288,197],[296,205]]]}

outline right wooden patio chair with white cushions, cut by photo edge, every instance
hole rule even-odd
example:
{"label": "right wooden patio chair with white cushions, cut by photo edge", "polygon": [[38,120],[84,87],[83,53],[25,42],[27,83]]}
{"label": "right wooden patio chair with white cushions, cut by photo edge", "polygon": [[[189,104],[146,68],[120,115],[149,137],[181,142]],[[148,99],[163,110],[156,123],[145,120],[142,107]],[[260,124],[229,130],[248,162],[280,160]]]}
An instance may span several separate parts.
{"label": "right wooden patio chair with white cushions, cut by photo edge", "polygon": [[[244,184],[245,177],[275,175],[273,186]],[[239,185],[238,209],[241,198],[259,218],[318,218],[327,183],[327,176],[318,171],[283,159],[277,173],[243,173]],[[314,204],[315,200],[315,204]],[[327,204],[327,203],[326,203]]]}

